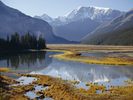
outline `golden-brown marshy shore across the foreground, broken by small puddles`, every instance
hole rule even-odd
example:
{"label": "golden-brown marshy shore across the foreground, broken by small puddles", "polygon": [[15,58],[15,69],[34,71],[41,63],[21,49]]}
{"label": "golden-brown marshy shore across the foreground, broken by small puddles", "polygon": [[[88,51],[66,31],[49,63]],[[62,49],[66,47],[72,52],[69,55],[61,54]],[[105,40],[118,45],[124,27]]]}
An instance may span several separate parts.
{"label": "golden-brown marshy shore across the foreground, broken by small puddles", "polygon": [[[2,72],[2,70],[0,70]],[[10,73],[10,70],[3,69],[3,72]],[[127,80],[126,86],[112,86],[110,89],[106,89],[103,85],[87,83],[86,86],[89,89],[77,88],[74,84],[78,82],[62,80],[60,78],[55,78],[47,75],[37,75],[37,74],[17,74],[20,77],[35,78],[34,81],[27,85],[19,85],[20,82],[14,80],[10,77],[1,75],[1,82],[3,86],[1,87],[1,98],[8,100],[29,100],[30,98],[25,94],[27,92],[35,91],[35,86],[48,87],[44,90],[39,90],[35,92],[38,99],[44,99],[45,97],[50,97],[54,100],[131,100],[133,99],[133,81]],[[18,85],[13,85],[18,84]],[[97,93],[97,91],[101,91]],[[36,98],[36,99],[37,99]]]}

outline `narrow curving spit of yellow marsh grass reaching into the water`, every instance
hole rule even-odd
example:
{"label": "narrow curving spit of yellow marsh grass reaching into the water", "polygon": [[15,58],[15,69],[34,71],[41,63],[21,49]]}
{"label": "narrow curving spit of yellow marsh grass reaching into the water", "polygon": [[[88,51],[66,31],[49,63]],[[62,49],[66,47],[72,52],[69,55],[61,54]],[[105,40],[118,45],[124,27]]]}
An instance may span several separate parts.
{"label": "narrow curving spit of yellow marsh grass reaching into the water", "polygon": [[[59,50],[58,50],[59,51]],[[68,60],[68,61],[78,61],[89,64],[105,64],[105,65],[133,65],[133,60],[128,60],[126,58],[119,57],[83,57],[77,55],[75,51],[62,51],[64,54],[53,55],[53,57]]]}

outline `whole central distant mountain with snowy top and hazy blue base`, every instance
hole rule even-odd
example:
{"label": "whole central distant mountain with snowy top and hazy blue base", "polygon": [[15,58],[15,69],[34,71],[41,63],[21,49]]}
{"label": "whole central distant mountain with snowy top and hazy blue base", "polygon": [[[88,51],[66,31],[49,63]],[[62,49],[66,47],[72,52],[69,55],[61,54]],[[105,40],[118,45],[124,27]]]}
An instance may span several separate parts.
{"label": "whole central distant mountain with snowy top and hazy blue base", "polygon": [[81,41],[99,25],[109,22],[124,12],[102,7],[78,7],[64,16],[51,18],[43,14],[35,18],[47,21],[57,36],[71,41]]}

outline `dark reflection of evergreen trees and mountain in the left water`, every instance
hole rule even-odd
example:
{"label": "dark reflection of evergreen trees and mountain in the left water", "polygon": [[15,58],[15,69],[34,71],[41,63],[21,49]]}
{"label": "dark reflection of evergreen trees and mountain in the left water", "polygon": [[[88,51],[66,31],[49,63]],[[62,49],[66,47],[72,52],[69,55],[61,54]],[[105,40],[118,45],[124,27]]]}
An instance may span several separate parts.
{"label": "dark reflection of evergreen trees and mountain in the left water", "polygon": [[53,53],[34,52],[21,54],[0,55],[0,67],[9,67],[15,70],[38,70],[47,67],[52,58],[48,56]]}

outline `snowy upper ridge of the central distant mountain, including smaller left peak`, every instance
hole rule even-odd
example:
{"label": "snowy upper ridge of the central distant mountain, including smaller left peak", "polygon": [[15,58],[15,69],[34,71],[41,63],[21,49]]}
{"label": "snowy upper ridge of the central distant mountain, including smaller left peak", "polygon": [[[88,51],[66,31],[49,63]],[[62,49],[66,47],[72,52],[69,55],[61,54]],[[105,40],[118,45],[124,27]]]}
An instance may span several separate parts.
{"label": "snowy upper ridge of the central distant mountain, including smaller left peak", "polygon": [[[86,18],[90,18],[91,20],[95,20],[98,22],[106,22],[110,21],[115,17],[118,17],[119,15],[123,14],[124,12],[121,12],[119,10],[113,10],[111,8],[103,8],[103,7],[78,7],[71,12],[68,12],[64,16],[59,16],[57,18],[52,18],[48,16],[47,14],[43,14],[42,16],[35,16],[38,18],[41,18],[47,22],[50,22],[51,24],[55,25],[56,21],[60,21],[64,24],[67,24],[72,21],[76,20],[83,20]],[[50,20],[49,20],[50,19]],[[52,22],[52,20],[53,22]],[[58,25],[58,24],[57,24]],[[62,25],[62,24],[61,24]]]}

